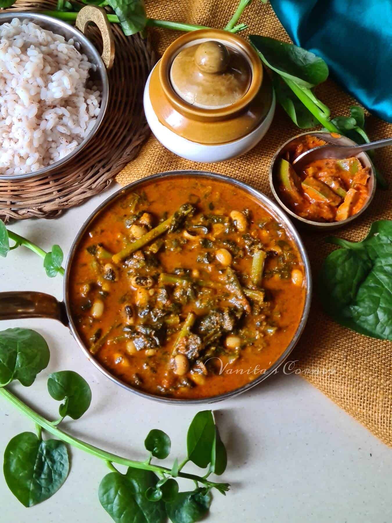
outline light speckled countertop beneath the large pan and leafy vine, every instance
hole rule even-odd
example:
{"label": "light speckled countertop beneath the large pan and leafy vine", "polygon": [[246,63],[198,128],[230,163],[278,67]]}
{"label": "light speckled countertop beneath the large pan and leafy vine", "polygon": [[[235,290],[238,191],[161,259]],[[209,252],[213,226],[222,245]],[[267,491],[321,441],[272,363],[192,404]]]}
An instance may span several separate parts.
{"label": "light speckled countertop beneath the large pan and leafy vine", "polygon": [[[110,189],[113,191],[114,185]],[[43,248],[59,243],[65,255],[80,224],[105,199],[97,196],[57,220],[27,220],[10,229]],[[22,248],[0,260],[1,290],[37,290],[62,298],[62,278],[45,276],[42,261]],[[51,349],[49,367],[30,388],[11,389],[54,419],[58,404],[47,392],[50,372],[75,370],[89,382],[93,402],[63,429],[98,447],[144,459],[143,441],[152,428],[165,430],[172,454],[185,457],[186,433],[203,407],[162,405],[141,399],[105,378],[84,357],[67,328],[51,320],[2,322],[40,332]],[[247,394],[213,406],[228,451],[222,481],[232,485],[214,495],[211,523],[390,523],[392,450],[301,377],[279,373]],[[28,418],[0,399],[1,453],[16,434],[33,430]],[[171,461],[169,460],[169,463]],[[188,465],[187,465],[188,467]],[[192,467],[190,467],[190,470]],[[188,470],[188,469],[187,469]],[[0,474],[0,521],[10,523],[110,523],[98,501],[105,464],[72,450],[71,472],[59,492],[25,508]],[[195,469],[196,471],[196,469]],[[180,486],[187,488],[187,482]],[[189,486],[189,483],[188,483]]]}

